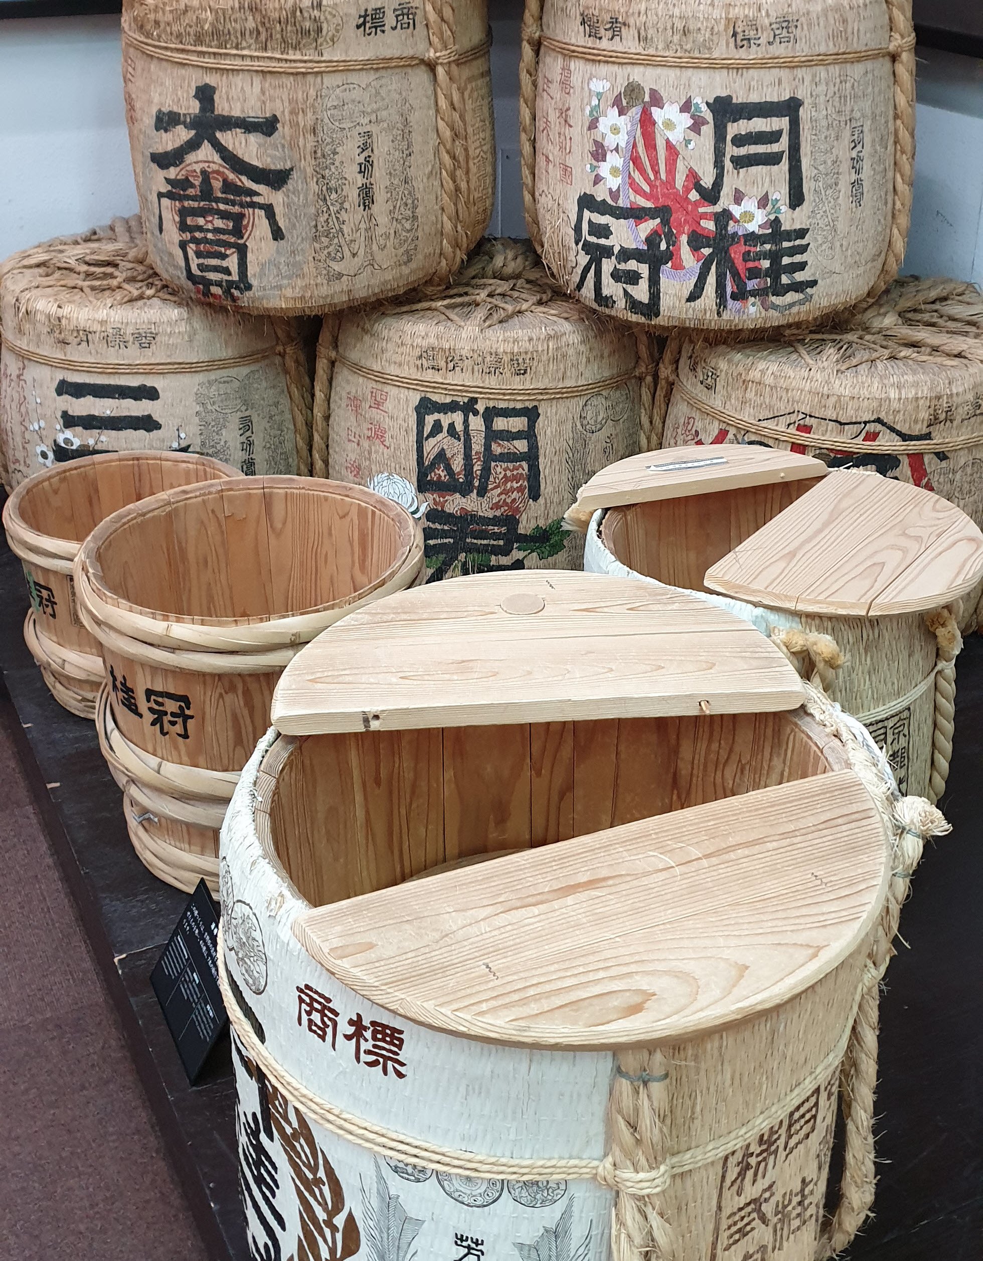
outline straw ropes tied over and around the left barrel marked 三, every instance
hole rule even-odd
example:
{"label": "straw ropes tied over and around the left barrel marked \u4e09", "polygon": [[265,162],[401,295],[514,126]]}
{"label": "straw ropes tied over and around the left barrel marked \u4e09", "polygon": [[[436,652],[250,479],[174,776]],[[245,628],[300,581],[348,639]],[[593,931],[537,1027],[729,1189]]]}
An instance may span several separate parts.
{"label": "straw ropes tied over and around the left barrel marked \u4e09", "polygon": [[[139,214],[132,214],[130,218],[115,218],[109,227],[93,228],[79,236],[56,237],[53,241],[11,255],[0,264],[0,285],[6,277],[23,272],[32,272],[32,294],[49,295],[54,300],[82,294],[92,303],[111,301],[114,305],[127,305],[151,299],[175,305],[187,304],[185,296],[159,276],[150,265]],[[302,477],[305,477],[310,474],[310,377],[303,348],[297,338],[297,329],[291,322],[285,318],[275,318],[271,324],[276,337],[275,353],[280,356],[284,366],[297,446],[297,470]],[[29,347],[14,346],[9,338],[6,340],[13,351],[24,354],[25,358],[54,367],[79,367],[69,359],[44,356]],[[158,362],[150,366],[150,371],[221,371],[240,363],[261,362],[269,358],[270,353],[273,352],[250,352],[244,356],[230,356],[227,359],[201,362]],[[87,363],[85,367],[86,371],[93,371],[92,364]],[[148,366],[105,363],[95,364],[95,371],[145,372]],[[4,484],[6,485],[6,483],[8,478],[5,477]]]}

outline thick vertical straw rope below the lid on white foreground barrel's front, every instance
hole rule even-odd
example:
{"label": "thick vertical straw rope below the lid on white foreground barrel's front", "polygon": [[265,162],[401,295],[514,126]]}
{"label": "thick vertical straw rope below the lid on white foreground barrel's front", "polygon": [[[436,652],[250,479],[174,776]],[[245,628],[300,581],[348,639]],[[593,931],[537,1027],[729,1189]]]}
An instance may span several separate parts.
{"label": "thick vertical straw rope below the lid on white foreground barrel's front", "polygon": [[[608,1153],[597,1179],[617,1192],[611,1212],[611,1261],[673,1261],[675,1237],[659,1197],[631,1189],[631,1175],[651,1178],[668,1155],[669,1066],[661,1050],[617,1057],[608,1100]],[[668,1179],[666,1179],[668,1180]],[[626,1185],[627,1184],[627,1185]]]}

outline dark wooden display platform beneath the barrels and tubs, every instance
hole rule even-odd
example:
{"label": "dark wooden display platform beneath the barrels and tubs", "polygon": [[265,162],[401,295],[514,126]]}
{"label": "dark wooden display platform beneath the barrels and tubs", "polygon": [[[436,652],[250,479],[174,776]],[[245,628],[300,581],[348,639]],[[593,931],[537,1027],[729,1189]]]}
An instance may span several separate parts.
{"label": "dark wooden display platform beneath the barrels and tubs", "polygon": [[[78,905],[96,961],[215,1261],[247,1261],[235,1165],[227,1038],[201,1083],[187,1084],[150,989],[184,894],[155,880],[134,854],[120,792],[95,726],[48,694],[21,638],[28,608],[20,565],[0,543],[0,710],[19,749],[38,812]],[[941,802],[951,836],[926,852],[905,908],[912,947],[893,960],[882,1001],[877,1096],[877,1216],[852,1261],[978,1261],[983,1236],[983,638],[959,658],[957,744]]]}

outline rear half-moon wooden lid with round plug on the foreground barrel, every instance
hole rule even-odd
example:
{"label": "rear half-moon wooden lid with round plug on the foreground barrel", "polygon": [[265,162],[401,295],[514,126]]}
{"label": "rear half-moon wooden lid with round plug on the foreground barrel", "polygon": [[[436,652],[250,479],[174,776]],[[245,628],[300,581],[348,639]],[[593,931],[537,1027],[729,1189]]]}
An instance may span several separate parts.
{"label": "rear half-moon wooden lid with round plug on the foreground barrel", "polygon": [[288,735],[796,709],[761,632],[636,579],[511,570],[434,583],[303,648],[273,699]]}

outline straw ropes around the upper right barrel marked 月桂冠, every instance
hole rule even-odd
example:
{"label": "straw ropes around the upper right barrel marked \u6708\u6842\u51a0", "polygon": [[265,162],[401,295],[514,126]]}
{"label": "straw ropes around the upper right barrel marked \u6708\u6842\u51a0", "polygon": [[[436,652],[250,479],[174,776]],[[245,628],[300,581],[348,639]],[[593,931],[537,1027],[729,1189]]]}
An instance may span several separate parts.
{"label": "straw ropes around the upper right barrel marked \u6708\u6842\u51a0", "polygon": [[[533,243],[539,253],[543,253],[543,230],[539,222],[539,209],[536,207],[536,86],[539,78],[539,50],[543,44],[575,49],[577,53],[568,55],[588,57],[589,50],[580,49],[577,44],[563,45],[559,40],[543,34],[543,4],[544,0],[525,0],[522,15],[521,50],[519,61],[519,144],[520,164],[522,174],[522,204],[526,217],[526,227]],[[885,259],[881,271],[871,286],[867,296],[858,304],[859,309],[876,300],[897,275],[901,261],[905,256],[905,241],[907,237],[909,222],[911,218],[911,193],[915,164],[915,30],[911,21],[911,0],[885,0],[890,23],[888,44],[883,49],[866,49],[863,54],[871,57],[890,57],[893,66],[893,112],[895,112],[895,174],[891,203],[891,228],[885,250]],[[646,54],[618,53],[604,49],[599,59],[612,62],[627,61],[628,63],[647,64],[646,58],[652,57],[652,64],[662,66],[692,66],[699,68],[734,68],[753,69],[756,66],[796,66],[796,64],[837,64],[867,61],[868,55],[843,53],[815,54],[818,58],[830,57],[832,61],[796,58],[669,58],[660,53]],[[594,57],[593,59],[598,59]],[[655,415],[654,429],[659,424],[659,414]]]}

